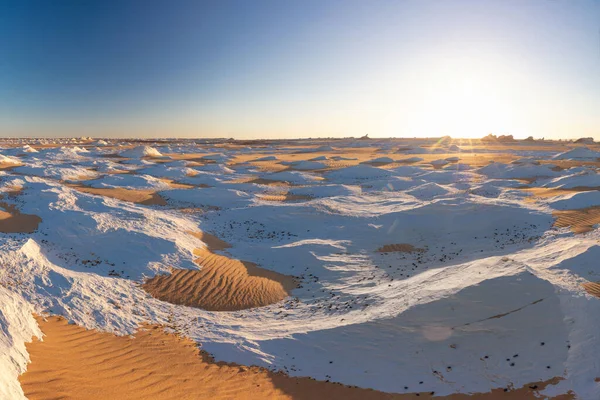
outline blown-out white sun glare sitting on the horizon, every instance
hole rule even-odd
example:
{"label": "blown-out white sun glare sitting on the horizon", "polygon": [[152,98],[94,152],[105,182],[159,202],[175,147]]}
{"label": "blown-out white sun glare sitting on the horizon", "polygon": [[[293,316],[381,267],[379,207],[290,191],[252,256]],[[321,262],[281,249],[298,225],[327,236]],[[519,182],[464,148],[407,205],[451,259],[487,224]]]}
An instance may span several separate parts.
{"label": "blown-out white sun glare sitting on the horizon", "polygon": [[480,138],[497,134],[525,135],[519,118],[518,79],[493,66],[465,60],[447,63],[421,73],[422,86],[413,86],[415,101],[398,120],[408,136],[450,135]]}

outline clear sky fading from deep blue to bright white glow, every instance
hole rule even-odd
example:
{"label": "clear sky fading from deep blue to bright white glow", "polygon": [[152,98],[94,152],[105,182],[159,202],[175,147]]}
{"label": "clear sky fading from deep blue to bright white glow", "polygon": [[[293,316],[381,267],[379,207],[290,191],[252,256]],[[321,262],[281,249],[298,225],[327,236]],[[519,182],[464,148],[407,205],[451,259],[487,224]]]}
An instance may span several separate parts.
{"label": "clear sky fading from deep blue to bright white glow", "polygon": [[600,0],[0,0],[2,136],[600,139]]}

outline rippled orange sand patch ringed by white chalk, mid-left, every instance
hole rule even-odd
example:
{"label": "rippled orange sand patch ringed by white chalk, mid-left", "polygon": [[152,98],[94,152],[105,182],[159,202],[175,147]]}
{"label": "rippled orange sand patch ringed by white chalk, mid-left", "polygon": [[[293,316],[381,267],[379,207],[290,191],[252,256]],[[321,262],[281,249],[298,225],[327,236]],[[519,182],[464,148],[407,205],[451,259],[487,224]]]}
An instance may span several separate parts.
{"label": "rippled orange sand patch ringed by white chalk, mid-left", "polygon": [[236,311],[277,303],[296,286],[291,276],[197,249],[200,270],[174,269],[142,287],[157,299],[209,311]]}

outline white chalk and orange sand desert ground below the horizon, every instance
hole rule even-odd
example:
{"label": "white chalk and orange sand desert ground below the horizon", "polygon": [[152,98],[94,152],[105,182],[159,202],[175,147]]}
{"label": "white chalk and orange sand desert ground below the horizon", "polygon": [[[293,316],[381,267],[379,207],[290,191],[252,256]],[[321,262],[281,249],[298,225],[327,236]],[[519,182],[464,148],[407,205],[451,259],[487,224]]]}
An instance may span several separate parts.
{"label": "white chalk and orange sand desert ground below the horizon", "polygon": [[3,139],[0,398],[598,399],[599,167],[558,141]]}

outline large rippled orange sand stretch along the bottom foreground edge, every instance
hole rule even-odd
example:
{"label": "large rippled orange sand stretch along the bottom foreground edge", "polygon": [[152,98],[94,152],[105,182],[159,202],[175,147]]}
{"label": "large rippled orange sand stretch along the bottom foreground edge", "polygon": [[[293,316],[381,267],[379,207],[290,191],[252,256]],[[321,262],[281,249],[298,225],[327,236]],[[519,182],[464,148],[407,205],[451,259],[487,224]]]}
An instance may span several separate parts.
{"label": "large rippled orange sand stretch along the bottom foreground edge", "polygon": [[[475,395],[390,394],[264,368],[214,362],[189,339],[146,326],[134,337],[86,330],[61,317],[38,318],[43,341],[27,344],[31,363],[19,381],[30,400],[48,399],[539,399],[558,378]],[[572,399],[564,395],[560,399]],[[558,400],[558,398],[556,398]]]}

